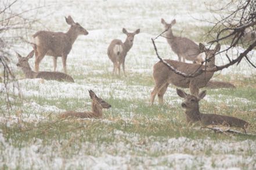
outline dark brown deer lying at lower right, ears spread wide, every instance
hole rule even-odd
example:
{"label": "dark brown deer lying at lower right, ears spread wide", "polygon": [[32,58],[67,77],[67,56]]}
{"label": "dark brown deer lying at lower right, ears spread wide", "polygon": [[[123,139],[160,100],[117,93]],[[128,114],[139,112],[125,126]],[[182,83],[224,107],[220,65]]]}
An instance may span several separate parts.
{"label": "dark brown deer lying at lower right, ears spread wide", "polygon": [[184,98],[181,106],[186,111],[186,121],[187,123],[196,123],[200,121],[201,125],[228,125],[230,127],[240,127],[243,128],[246,133],[246,128],[248,126],[247,121],[238,119],[232,116],[222,116],[219,114],[204,114],[199,111],[199,101],[203,99],[206,95],[206,90],[201,91],[198,97],[195,95],[186,94],[183,90],[176,88],[179,97]]}

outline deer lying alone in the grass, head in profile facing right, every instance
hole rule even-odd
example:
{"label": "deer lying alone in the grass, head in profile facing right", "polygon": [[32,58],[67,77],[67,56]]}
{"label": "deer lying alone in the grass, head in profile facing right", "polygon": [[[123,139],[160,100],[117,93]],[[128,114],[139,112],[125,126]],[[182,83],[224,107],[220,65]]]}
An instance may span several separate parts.
{"label": "deer lying alone in the grass, head in profile facing right", "polygon": [[92,99],[92,111],[91,112],[74,112],[67,111],[60,114],[61,118],[65,117],[78,117],[78,118],[102,118],[102,109],[109,109],[111,107],[106,101],[96,96],[96,94],[89,90],[89,95]]}

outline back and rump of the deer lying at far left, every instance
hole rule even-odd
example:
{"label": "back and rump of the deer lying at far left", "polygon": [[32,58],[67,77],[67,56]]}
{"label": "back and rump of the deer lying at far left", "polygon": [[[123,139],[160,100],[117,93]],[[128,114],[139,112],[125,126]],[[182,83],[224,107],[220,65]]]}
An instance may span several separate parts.
{"label": "back and rump of the deer lying at far left", "polygon": [[74,79],[70,75],[66,75],[62,72],[38,72],[38,74],[37,74],[37,76],[35,76],[35,78],[74,83]]}

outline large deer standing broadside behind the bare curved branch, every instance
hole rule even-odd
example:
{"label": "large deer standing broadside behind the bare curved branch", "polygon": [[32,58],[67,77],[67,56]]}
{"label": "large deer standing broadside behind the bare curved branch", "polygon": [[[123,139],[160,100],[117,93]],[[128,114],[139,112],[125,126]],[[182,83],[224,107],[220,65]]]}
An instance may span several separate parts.
{"label": "large deer standing broadside behind the bare curved branch", "polygon": [[[221,45],[218,44],[214,50],[206,49],[201,43],[199,46],[201,51],[205,51],[205,56],[208,58],[208,62],[206,63],[207,68],[214,67],[215,53],[221,49]],[[189,64],[174,60],[164,61],[173,66],[176,70],[186,74],[191,74],[205,68],[205,66],[200,64]],[[169,84],[173,84],[177,87],[189,88],[191,94],[198,95],[199,88],[205,87],[213,75],[214,72],[204,72],[196,77],[183,77],[171,71],[167,65],[165,65],[162,61],[159,61],[153,66],[153,78],[155,86],[151,93],[150,104],[154,104],[154,98],[156,95],[158,95],[158,102],[163,104],[164,93]]]}

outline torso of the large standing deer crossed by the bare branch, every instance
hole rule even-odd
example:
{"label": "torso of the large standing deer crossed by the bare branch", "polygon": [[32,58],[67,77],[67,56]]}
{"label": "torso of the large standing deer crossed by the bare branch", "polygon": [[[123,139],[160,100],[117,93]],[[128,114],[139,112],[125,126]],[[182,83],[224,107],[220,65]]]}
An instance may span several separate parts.
{"label": "torso of the large standing deer crossed by the bare branch", "polygon": [[[175,60],[164,61],[174,67],[177,71],[181,71],[188,75],[205,68],[205,66],[201,64],[189,64]],[[213,75],[214,72],[203,72],[196,77],[183,77],[171,71],[171,69],[162,61],[158,61],[153,67],[153,77],[154,80],[156,80],[156,84],[170,83],[182,88],[189,88],[189,84],[192,81],[196,82],[198,88],[205,87]]]}

